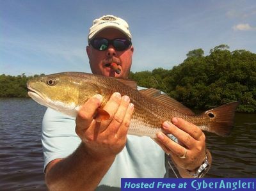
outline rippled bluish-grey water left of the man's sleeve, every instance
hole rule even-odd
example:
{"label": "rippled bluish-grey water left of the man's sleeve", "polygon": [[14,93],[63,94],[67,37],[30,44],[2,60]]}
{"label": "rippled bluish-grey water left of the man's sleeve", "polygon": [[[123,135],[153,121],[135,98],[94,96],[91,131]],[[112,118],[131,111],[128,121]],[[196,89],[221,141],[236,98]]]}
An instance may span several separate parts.
{"label": "rippled bluish-grey water left of the man's sleeve", "polygon": [[45,109],[26,98],[0,100],[0,190],[47,190],[40,140]]}

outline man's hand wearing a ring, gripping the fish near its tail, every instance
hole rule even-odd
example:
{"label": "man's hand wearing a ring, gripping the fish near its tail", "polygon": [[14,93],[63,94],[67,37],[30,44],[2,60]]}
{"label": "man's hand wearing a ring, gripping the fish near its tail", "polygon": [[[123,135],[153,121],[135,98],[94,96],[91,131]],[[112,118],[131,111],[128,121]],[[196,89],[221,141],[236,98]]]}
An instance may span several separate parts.
{"label": "man's hand wearing a ring, gripping the fish near its tail", "polygon": [[[171,154],[177,167],[193,171],[202,165],[205,159],[205,135],[198,126],[181,118],[173,118],[172,123],[163,123],[163,130],[178,139],[178,143],[174,142],[162,132],[157,133],[156,139],[165,153]],[[180,158],[182,156],[185,158]]]}

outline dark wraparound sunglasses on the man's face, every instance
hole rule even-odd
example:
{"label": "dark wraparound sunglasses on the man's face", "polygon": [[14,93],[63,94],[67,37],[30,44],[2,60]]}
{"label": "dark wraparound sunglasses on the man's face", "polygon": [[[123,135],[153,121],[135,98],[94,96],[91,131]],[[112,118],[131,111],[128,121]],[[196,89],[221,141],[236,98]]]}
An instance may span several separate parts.
{"label": "dark wraparound sunglasses on the man's face", "polygon": [[93,38],[89,45],[90,44],[94,49],[100,51],[108,49],[109,45],[113,45],[113,47],[118,51],[124,51],[131,46],[132,42],[125,38],[115,38],[113,40],[108,40],[106,38]]}

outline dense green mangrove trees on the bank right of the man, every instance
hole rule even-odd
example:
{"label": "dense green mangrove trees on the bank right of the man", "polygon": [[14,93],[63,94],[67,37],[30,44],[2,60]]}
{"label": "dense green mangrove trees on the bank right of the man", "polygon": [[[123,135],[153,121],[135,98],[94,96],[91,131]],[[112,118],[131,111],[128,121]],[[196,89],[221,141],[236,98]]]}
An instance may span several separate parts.
{"label": "dense green mangrove trees on the bank right of the man", "polygon": [[256,54],[246,50],[230,52],[219,45],[204,56],[191,50],[187,59],[172,70],[132,73],[139,86],[157,88],[192,109],[211,109],[239,101],[239,112],[256,112]]}

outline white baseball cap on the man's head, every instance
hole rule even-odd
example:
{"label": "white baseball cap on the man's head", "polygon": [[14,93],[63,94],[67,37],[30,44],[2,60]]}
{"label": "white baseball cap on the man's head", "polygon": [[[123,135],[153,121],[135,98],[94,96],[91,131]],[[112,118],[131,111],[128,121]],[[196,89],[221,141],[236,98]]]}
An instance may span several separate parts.
{"label": "white baseball cap on the man's head", "polygon": [[129,25],[124,19],[115,17],[113,15],[104,15],[99,19],[93,20],[93,25],[90,27],[88,34],[88,42],[93,38],[93,36],[102,31],[102,29],[106,28],[118,29],[124,33],[129,38],[129,40],[132,38],[132,35],[129,31]]}

